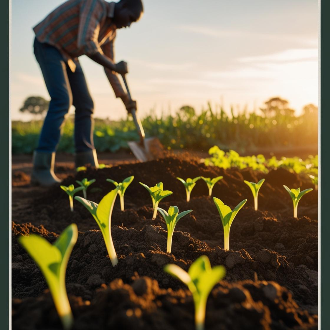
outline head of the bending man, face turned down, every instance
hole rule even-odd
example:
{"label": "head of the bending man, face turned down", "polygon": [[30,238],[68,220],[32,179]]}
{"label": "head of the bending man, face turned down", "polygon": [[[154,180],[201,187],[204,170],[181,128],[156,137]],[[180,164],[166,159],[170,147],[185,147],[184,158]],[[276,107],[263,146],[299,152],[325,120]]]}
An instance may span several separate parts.
{"label": "head of the bending man, face turned down", "polygon": [[129,27],[143,15],[142,0],[120,0],[115,5],[113,22],[117,29]]}

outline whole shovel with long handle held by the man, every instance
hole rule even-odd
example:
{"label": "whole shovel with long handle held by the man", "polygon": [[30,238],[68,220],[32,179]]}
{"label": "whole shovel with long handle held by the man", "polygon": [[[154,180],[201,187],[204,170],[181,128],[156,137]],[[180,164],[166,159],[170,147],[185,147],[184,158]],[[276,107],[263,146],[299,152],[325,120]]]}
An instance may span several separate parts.
{"label": "whole shovel with long handle held by the man", "polygon": [[[131,98],[131,93],[128,88],[125,75],[121,75],[127,90],[127,95]],[[140,141],[128,141],[127,144],[132,150],[134,156],[141,162],[154,160],[164,156],[164,147],[156,137],[146,138],[142,123],[139,117],[136,116],[136,109],[130,111],[132,114],[136,130],[140,136]]]}

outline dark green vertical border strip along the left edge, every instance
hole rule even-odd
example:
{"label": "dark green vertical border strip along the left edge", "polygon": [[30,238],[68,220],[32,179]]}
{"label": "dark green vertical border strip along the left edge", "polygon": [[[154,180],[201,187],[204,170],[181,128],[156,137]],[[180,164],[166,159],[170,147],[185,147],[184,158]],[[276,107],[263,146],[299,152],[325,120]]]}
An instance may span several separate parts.
{"label": "dark green vertical border strip along the left edge", "polygon": [[[9,329],[9,0],[0,2],[0,31],[2,47],[0,52],[0,90],[2,113],[0,120],[0,141],[2,161],[0,170],[3,182],[0,190],[0,251],[2,270],[0,272],[0,319],[1,329]],[[7,158],[8,155],[8,158]]]}

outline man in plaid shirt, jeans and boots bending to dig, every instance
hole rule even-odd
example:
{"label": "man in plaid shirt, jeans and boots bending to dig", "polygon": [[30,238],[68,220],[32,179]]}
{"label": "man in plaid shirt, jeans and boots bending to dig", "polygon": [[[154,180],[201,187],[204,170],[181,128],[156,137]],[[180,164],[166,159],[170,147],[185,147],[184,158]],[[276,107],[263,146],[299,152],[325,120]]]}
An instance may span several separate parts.
{"label": "man in plaid shirt, jeans and boots bending to dig", "polygon": [[127,73],[127,63],[114,62],[114,40],[116,29],[129,27],[142,14],[142,0],[69,0],[33,28],[34,54],[51,100],[33,153],[31,182],[48,186],[61,181],[54,174],[55,151],[71,105],[75,106],[76,167],[98,167],[93,142],[94,105],[78,57],[87,55],[101,64],[126,110],[136,109],[136,102],[128,97],[117,76]]}

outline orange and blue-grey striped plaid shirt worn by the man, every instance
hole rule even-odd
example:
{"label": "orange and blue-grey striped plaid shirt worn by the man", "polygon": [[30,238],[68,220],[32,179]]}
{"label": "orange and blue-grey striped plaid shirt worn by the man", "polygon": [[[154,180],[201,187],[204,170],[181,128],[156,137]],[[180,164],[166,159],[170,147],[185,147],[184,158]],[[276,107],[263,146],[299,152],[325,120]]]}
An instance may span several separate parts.
{"label": "orange and blue-grey striped plaid shirt worn by the man", "polygon": [[[41,43],[56,47],[72,72],[81,55],[97,52],[114,60],[115,2],[68,0],[33,28]],[[116,72],[104,69],[116,97],[125,95]]]}

